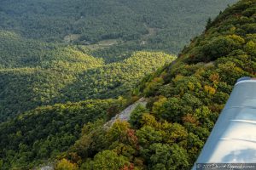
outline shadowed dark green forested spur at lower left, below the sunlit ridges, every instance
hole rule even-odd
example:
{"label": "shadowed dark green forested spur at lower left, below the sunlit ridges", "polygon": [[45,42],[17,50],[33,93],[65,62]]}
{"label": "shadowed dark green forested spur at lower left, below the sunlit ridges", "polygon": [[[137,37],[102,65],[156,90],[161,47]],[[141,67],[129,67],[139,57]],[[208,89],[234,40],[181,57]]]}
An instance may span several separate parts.
{"label": "shadowed dark green forested spur at lower left, below the sunlit ridges", "polygon": [[1,169],[29,169],[61,155],[79,138],[84,123],[107,120],[124,103],[121,98],[90,99],[43,106],[0,124]]}

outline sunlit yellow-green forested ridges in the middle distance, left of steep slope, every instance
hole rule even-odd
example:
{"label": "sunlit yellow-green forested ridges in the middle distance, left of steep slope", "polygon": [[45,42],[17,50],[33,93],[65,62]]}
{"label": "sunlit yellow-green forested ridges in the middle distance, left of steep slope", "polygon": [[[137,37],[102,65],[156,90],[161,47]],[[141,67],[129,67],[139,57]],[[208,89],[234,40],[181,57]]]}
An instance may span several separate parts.
{"label": "sunlit yellow-green forested ridges in the middle distance, left of steep slope", "polygon": [[105,64],[80,46],[24,40],[8,31],[0,31],[0,42],[0,122],[40,105],[116,98],[175,59],[141,51]]}

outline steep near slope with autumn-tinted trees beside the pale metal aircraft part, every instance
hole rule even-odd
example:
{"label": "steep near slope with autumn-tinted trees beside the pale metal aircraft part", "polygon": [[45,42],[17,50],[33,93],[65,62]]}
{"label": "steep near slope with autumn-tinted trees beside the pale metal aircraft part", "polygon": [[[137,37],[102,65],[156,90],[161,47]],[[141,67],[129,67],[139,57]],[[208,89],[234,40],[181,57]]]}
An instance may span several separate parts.
{"label": "steep near slope with autumn-tinted trees beside the pale metal aircraft part", "polygon": [[256,1],[224,10],[175,63],[139,87],[130,122],[84,126],[56,169],[190,169],[240,77],[256,76]]}

